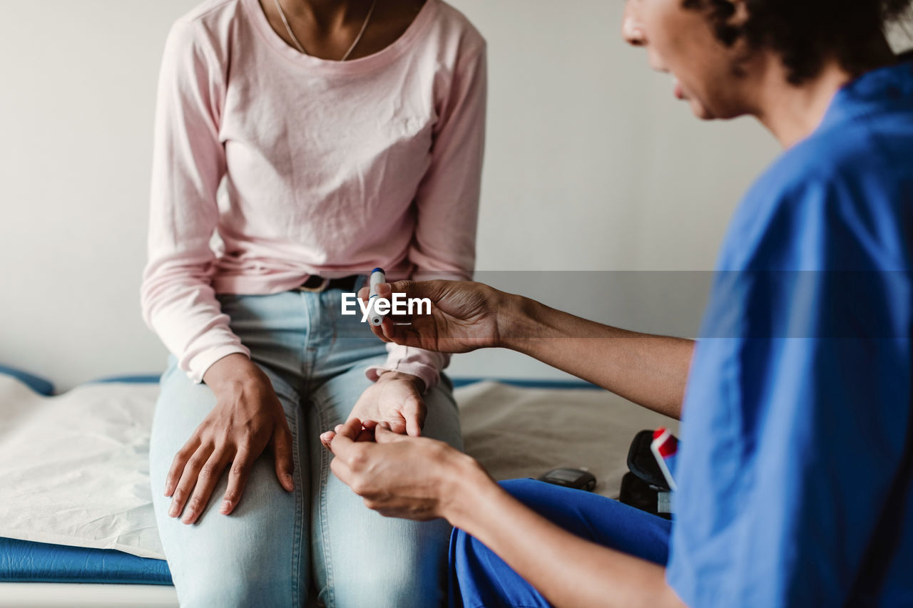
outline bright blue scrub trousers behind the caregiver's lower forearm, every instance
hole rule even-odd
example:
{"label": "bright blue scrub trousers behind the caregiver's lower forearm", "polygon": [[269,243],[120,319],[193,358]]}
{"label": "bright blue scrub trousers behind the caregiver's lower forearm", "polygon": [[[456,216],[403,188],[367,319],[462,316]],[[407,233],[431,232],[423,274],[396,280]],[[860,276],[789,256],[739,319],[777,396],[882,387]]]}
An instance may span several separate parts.
{"label": "bright blue scrub trousers behind the caregiver's lower forearm", "polygon": [[[666,565],[672,522],[583,490],[534,479],[502,481],[511,496],[545,519],[603,547]],[[551,606],[492,550],[461,529],[450,537],[450,606]]]}

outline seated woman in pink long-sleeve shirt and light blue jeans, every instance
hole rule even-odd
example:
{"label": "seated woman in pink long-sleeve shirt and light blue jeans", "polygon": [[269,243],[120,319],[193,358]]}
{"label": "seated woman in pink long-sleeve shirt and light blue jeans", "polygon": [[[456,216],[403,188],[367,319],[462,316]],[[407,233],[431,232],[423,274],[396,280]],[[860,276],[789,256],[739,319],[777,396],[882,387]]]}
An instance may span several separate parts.
{"label": "seated woman in pink long-sleeve shirt and light blue jeans", "polygon": [[151,477],[182,605],[443,597],[446,522],[365,508],[318,435],[460,445],[446,356],[385,349],[341,298],[373,267],[470,277],[485,65],[441,0],[207,0],[173,26],[142,310],[173,355]]}

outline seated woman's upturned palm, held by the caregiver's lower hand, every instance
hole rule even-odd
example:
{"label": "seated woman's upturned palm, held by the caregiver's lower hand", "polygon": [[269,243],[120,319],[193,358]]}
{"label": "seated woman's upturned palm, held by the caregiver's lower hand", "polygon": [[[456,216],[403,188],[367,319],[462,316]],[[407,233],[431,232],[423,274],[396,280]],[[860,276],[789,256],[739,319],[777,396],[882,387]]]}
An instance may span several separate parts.
{"label": "seated woman's upturned palm, held by the caregiver's lower hand", "polygon": [[349,420],[358,418],[365,428],[389,425],[394,433],[414,437],[425,425],[425,383],[410,373],[383,372],[358,398]]}

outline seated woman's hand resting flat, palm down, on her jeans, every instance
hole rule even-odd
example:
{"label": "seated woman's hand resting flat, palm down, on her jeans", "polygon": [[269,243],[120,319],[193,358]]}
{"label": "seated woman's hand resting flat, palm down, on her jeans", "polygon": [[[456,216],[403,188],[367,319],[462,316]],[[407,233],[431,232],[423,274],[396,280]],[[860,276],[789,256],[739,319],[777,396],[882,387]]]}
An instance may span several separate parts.
{"label": "seated woman's hand resting flat, palm down, on her jeans", "polygon": [[174,456],[165,479],[165,496],[172,497],[168,515],[176,518],[184,511],[185,524],[200,517],[229,465],[219,512],[231,513],[267,446],[276,457],[279,483],[294,489],[289,423],[267,375],[245,355],[232,354],[215,362],[204,380],[215,393],[215,407]]}

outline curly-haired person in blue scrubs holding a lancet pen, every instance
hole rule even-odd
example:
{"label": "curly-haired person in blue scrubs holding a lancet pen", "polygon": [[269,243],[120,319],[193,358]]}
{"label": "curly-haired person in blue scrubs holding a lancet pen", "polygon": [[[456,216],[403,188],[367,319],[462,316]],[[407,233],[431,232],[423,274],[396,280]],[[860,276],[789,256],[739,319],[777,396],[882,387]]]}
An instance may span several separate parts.
{"label": "curly-haired person in blue scrubs holding a lancet pen", "polygon": [[[451,603],[913,605],[913,59],[908,2],[628,0],[624,37],[699,117],[785,149],[741,201],[698,341],[582,320],[478,283],[383,340],[530,354],[682,414],[674,522],[349,420],[321,438],[384,515],[443,517]],[[553,340],[551,340],[553,339]],[[595,339],[595,340],[594,340]]]}

